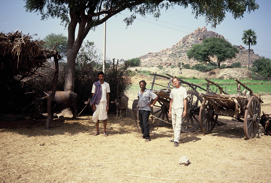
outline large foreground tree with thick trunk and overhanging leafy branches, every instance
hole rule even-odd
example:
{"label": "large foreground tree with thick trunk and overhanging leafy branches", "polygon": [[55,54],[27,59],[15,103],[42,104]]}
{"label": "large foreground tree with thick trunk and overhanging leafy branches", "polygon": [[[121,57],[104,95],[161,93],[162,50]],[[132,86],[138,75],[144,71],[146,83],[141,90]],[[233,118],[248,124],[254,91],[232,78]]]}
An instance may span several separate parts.
{"label": "large foreground tree with thick trunk and overhanging leafy branches", "polygon": [[[132,12],[130,17],[124,19],[131,25],[136,14],[141,16],[153,15],[159,18],[160,9],[174,7],[175,5],[192,8],[195,18],[205,16],[206,23],[212,27],[224,20],[226,12],[230,12],[235,19],[242,18],[244,12],[250,13],[259,8],[255,0],[24,0],[26,11],[38,12],[42,20],[49,17],[60,18],[61,24],[68,26],[67,68],[65,72],[65,91],[74,90],[75,60],[78,51],[88,32],[96,26],[103,24],[110,17],[128,9]],[[76,31],[78,31],[76,33]],[[75,35],[77,37],[75,37]]]}

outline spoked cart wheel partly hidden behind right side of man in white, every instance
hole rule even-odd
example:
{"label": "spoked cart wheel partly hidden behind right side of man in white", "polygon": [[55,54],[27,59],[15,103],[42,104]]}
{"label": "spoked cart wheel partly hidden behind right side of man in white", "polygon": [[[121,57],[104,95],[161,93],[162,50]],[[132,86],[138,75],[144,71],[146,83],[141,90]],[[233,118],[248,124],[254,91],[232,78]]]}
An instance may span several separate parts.
{"label": "spoked cart wheel partly hidden behind right side of man in white", "polygon": [[187,113],[182,119],[182,132],[194,132],[199,128],[199,109],[202,104],[202,97],[193,90],[187,91]]}

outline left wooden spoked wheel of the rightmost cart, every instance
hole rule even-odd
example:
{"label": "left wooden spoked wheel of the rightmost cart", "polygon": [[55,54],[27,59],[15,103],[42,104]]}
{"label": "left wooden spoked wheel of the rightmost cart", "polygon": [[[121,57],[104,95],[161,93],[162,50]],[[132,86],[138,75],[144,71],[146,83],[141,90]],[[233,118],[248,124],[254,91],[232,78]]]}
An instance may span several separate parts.
{"label": "left wooden spoked wheel of the rightmost cart", "polygon": [[210,133],[217,122],[218,115],[215,115],[214,106],[207,99],[204,99],[199,111],[199,125],[203,133]]}

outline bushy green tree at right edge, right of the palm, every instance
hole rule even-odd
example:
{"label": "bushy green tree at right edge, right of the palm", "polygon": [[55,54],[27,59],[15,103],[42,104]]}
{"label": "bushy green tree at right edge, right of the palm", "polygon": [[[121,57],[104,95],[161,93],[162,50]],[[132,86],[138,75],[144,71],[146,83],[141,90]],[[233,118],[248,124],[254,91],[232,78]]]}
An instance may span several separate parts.
{"label": "bushy green tree at right edge, right of the palm", "polygon": [[255,60],[252,64],[251,71],[253,74],[260,74],[265,79],[271,78],[271,60],[261,57]]}

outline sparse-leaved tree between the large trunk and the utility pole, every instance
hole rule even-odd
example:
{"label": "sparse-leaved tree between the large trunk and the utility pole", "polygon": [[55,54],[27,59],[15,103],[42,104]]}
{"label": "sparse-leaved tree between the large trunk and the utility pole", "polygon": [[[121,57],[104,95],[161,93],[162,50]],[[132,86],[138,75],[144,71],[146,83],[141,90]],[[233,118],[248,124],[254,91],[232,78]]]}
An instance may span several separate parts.
{"label": "sparse-leaved tree between the large trunk and the utility pole", "polygon": [[85,65],[91,65],[92,68],[102,61],[102,53],[95,47],[94,42],[83,42],[77,57],[76,69],[82,69]]}

